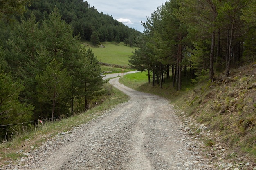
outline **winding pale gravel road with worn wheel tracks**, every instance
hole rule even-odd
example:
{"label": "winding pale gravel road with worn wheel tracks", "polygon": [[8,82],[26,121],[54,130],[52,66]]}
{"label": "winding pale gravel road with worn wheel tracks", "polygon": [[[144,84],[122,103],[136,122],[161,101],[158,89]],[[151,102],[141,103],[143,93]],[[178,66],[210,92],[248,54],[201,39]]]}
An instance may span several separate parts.
{"label": "winding pale gravel road with worn wheel tracks", "polygon": [[52,137],[7,170],[219,170],[161,97],[110,84],[130,95],[103,116]]}

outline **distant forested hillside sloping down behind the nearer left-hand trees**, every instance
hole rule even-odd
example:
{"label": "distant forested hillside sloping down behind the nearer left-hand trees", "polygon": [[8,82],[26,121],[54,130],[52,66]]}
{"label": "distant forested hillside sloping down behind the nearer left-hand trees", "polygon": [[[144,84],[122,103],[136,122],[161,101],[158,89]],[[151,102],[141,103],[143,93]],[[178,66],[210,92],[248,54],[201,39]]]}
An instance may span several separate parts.
{"label": "distant forested hillside sloping down behind the nearer left-hand trees", "polygon": [[[119,35],[120,41],[129,38],[130,35],[137,37],[140,32],[125,26],[111,15],[99,13],[97,9],[83,0],[41,0],[32,1],[22,18],[28,18],[31,13],[36,16],[36,21],[41,22],[48,18],[54,7],[58,8],[62,19],[74,28],[74,35],[80,34],[82,40],[95,41],[97,33],[99,41],[114,41]],[[97,38],[97,39],[98,39]]]}

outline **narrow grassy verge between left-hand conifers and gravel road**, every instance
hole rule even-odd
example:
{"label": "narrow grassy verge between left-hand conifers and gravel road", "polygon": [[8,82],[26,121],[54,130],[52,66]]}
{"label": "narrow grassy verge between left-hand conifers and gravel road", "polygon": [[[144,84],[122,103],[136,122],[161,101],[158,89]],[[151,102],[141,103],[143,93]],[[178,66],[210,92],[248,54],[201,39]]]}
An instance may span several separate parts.
{"label": "narrow grassy verge between left-hand conifers and gravel road", "polygon": [[0,144],[0,165],[6,160],[16,160],[24,157],[25,155],[18,152],[19,150],[36,149],[43,141],[47,141],[51,136],[55,136],[61,132],[67,132],[72,130],[74,126],[84,124],[92,119],[97,119],[103,114],[103,110],[108,110],[128,100],[127,95],[113,88],[110,84],[105,84],[105,86],[111,95],[108,96],[108,99],[103,104],[70,118],[64,118],[56,122],[44,122],[44,126],[38,124],[33,130],[16,133],[12,141],[3,141]]}

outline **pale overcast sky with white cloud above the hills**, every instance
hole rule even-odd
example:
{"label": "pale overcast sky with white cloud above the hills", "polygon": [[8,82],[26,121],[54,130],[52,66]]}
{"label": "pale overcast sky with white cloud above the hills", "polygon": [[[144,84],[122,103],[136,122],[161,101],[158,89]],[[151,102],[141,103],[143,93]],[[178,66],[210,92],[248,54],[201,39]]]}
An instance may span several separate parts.
{"label": "pale overcast sky with white cloud above the hills", "polygon": [[87,0],[87,2],[99,13],[112,15],[119,22],[143,32],[141,21],[145,22],[158,6],[165,4],[166,0]]}

